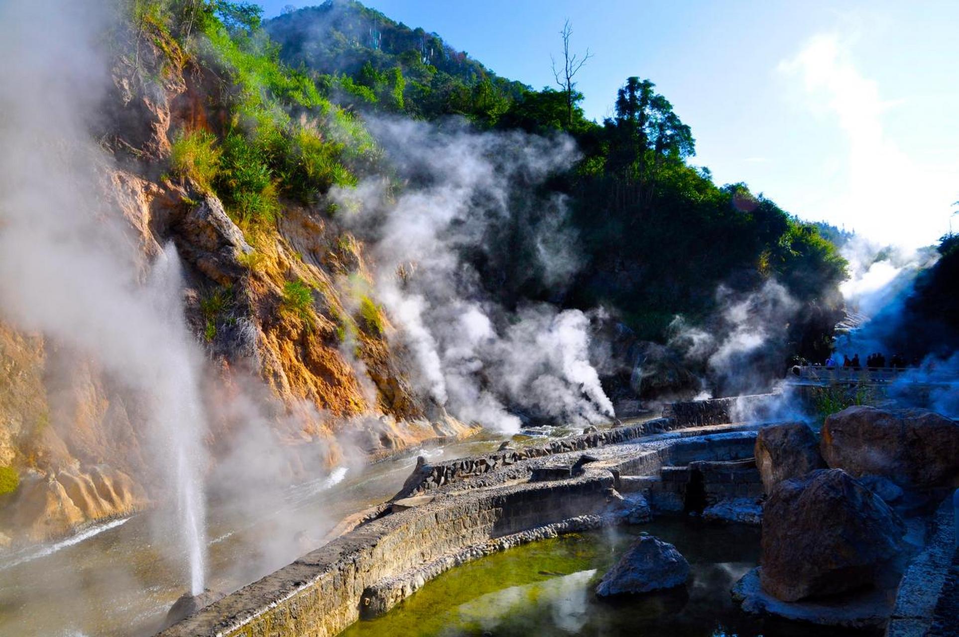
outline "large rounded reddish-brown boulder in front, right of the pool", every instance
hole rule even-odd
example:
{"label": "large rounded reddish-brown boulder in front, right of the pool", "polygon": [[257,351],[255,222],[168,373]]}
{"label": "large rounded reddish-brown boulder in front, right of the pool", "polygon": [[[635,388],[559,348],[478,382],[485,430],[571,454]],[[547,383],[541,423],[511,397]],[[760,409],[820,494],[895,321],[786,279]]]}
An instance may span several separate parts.
{"label": "large rounded reddish-brown boulder in front, right of the pool", "polygon": [[841,469],[786,480],[762,511],[762,588],[795,602],[872,584],[904,534],[899,515]]}

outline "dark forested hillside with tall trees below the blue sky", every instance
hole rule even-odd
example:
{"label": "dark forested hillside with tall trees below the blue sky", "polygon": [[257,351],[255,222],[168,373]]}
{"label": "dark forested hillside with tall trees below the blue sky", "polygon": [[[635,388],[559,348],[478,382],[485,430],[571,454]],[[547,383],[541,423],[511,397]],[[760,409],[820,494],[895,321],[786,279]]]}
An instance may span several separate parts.
{"label": "dark forested hillside with tall trees below the blue sky", "polygon": [[[584,118],[574,85],[535,90],[503,80],[435,34],[357,2],[292,11],[266,29],[282,59],[329,99],[367,117],[386,112],[444,125],[459,114],[481,130],[573,137],[578,160],[538,187],[567,197],[570,214],[528,211],[489,242],[502,247],[500,254],[487,251],[476,262],[505,303],[601,305],[637,339],[659,342],[683,340],[676,323],[682,315],[683,325],[701,325],[721,341],[730,330],[723,308],[775,281],[798,309],[753,362],[773,373],[790,356],[827,355],[841,317],[837,284],[846,276],[834,243],[745,184],[717,186],[707,169],[691,164],[693,133],[652,81],[624,79],[610,96],[615,116],[596,123]],[[576,236],[579,267],[565,284],[536,276],[530,227],[544,224]],[[704,363],[693,366],[702,370]]]}

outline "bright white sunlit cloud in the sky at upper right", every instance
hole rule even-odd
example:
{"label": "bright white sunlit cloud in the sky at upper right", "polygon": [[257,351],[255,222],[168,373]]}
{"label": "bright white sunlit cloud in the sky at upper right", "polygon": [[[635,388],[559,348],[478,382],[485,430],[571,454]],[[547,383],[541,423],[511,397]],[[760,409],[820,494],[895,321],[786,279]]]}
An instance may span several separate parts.
{"label": "bright white sunlit cloud in the sky at upper right", "polygon": [[833,119],[846,140],[845,157],[825,160],[839,169],[838,191],[822,198],[818,210],[804,210],[804,216],[910,247],[946,231],[959,170],[955,164],[930,166],[901,150],[883,121],[906,102],[883,99],[879,82],[854,64],[847,41],[838,34],[817,34],[799,54],[782,61],[779,71],[802,81],[809,111]]}

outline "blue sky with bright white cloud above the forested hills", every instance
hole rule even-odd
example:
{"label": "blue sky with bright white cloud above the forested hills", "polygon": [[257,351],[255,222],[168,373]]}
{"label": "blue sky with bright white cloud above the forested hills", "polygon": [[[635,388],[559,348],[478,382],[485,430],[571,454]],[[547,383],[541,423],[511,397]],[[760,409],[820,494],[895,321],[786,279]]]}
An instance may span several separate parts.
{"label": "blue sky with bright white cloud above the forested hills", "polygon": [[537,88],[569,18],[573,50],[594,55],[577,77],[589,117],[611,113],[627,77],[653,80],[692,127],[693,164],[804,218],[917,246],[957,209],[959,2],[365,4]]}

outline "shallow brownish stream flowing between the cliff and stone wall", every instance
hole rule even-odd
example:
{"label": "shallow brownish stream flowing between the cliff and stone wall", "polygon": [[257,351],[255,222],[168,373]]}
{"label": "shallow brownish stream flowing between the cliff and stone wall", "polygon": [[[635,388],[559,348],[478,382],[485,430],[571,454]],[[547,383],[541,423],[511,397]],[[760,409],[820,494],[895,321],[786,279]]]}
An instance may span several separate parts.
{"label": "shallow brownish stream flowing between the cliff and stone wall", "polygon": [[[518,436],[536,444],[570,429]],[[206,586],[233,591],[316,548],[340,520],[379,504],[402,486],[417,453],[436,462],[495,450],[479,437],[427,448],[287,489],[255,513],[248,503],[209,503]],[[158,539],[145,512],[88,527],[58,542],[0,555],[0,636],[139,637],[159,628],[176,598],[197,585],[184,572],[181,538]]]}

